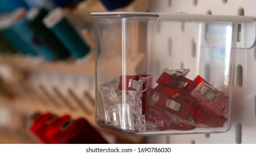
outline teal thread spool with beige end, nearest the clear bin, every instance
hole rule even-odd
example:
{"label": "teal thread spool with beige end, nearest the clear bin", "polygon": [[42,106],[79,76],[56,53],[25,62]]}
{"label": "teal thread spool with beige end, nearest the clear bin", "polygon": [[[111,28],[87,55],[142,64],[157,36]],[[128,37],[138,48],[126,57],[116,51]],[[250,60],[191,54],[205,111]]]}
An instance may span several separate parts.
{"label": "teal thread spool with beige end, nearest the clear bin", "polygon": [[46,27],[62,41],[71,55],[76,59],[81,59],[89,54],[90,48],[81,37],[76,33],[75,29],[69,24],[64,17],[62,8],[55,8],[47,17],[43,19]]}

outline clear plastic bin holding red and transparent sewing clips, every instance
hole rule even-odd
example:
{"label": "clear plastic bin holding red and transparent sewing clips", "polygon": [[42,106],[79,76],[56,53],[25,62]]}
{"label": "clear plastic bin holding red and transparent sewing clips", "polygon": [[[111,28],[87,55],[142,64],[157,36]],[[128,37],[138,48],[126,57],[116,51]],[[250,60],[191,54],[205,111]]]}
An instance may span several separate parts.
{"label": "clear plastic bin holding red and transparent sewing clips", "polygon": [[235,50],[253,46],[253,17],[187,13],[91,13],[91,17],[100,126],[129,135],[229,130]]}

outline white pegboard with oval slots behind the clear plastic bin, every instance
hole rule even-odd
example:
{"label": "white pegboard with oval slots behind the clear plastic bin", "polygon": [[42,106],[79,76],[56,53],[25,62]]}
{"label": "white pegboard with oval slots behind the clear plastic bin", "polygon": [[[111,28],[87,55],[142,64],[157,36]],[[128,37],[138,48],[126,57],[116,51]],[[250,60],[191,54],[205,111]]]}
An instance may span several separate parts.
{"label": "white pegboard with oval slots behind the clear plastic bin", "polygon": [[[150,1],[150,12],[165,13],[196,13],[223,14],[256,17],[256,1],[253,0],[165,0]],[[159,28],[156,28],[159,29]],[[189,34],[186,25],[181,29]],[[159,29],[164,34],[164,29]],[[160,49],[163,48],[161,40]],[[172,40],[173,43],[173,40]],[[193,48],[192,45],[187,45]],[[168,46],[166,46],[168,47]],[[191,50],[193,51],[193,50]],[[175,53],[175,51],[172,51]],[[178,54],[178,53],[175,53]],[[180,53],[181,55],[182,53]],[[197,54],[197,53],[194,53]],[[183,68],[190,68],[191,73],[196,70],[196,56],[186,54],[184,60],[178,62]],[[180,59],[179,59],[180,60]],[[167,137],[149,137],[149,143],[256,143],[256,48],[237,50],[235,59],[235,73],[232,102],[232,127],[226,133],[212,133],[199,135],[171,135]],[[191,74],[190,73],[190,74]],[[192,75],[193,76],[193,75]]]}

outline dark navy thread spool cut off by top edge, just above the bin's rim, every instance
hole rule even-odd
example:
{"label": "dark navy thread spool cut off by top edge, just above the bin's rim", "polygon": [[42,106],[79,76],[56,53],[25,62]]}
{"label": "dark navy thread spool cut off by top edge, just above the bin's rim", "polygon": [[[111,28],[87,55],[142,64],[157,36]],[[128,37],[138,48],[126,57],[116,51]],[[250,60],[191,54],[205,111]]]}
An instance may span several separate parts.
{"label": "dark navy thread spool cut off by top edge, just above the bin's rim", "polygon": [[123,8],[126,7],[128,4],[130,4],[133,0],[101,0],[101,2],[104,4],[106,9],[108,10],[114,10],[117,8]]}

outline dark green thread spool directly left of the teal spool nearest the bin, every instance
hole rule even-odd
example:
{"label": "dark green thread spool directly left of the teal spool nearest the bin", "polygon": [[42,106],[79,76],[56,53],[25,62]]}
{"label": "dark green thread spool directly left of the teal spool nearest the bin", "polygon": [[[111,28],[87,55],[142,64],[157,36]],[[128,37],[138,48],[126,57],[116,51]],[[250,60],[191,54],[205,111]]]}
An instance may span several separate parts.
{"label": "dark green thread spool directly left of the teal spool nearest the bin", "polygon": [[57,56],[58,59],[69,58],[70,53],[60,40],[43,24],[43,18],[48,14],[45,9],[33,8],[27,13],[28,27],[34,32],[35,37]]}

